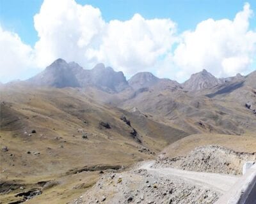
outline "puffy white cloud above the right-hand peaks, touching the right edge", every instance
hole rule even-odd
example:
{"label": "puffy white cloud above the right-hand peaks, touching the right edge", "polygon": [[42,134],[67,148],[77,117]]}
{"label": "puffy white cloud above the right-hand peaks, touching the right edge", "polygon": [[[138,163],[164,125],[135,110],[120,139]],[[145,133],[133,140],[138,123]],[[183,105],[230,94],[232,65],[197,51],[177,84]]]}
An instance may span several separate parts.
{"label": "puffy white cloud above the right-hand peaks, touching the right edge", "polygon": [[256,54],[256,33],[249,30],[252,15],[246,3],[234,20],[210,18],[200,22],[195,31],[185,31],[173,54],[180,68],[176,77],[188,78],[203,68],[217,77],[246,73]]}

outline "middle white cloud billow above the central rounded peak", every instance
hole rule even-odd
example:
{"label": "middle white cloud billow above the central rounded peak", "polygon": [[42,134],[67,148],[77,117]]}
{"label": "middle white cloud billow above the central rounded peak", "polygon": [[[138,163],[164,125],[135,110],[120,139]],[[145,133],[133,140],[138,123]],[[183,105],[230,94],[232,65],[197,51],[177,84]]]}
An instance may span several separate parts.
{"label": "middle white cloud billow above the central rounded peak", "polygon": [[92,55],[129,75],[145,71],[172,48],[175,31],[170,19],[146,20],[135,14],[124,22],[111,20],[100,49]]}

